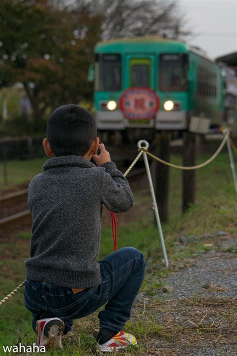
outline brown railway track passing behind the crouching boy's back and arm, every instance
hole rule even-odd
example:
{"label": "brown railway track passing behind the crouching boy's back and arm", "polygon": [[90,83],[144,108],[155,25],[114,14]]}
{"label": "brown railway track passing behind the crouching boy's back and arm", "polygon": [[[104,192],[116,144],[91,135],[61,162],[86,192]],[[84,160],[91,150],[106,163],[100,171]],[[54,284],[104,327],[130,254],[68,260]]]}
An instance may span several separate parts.
{"label": "brown railway track passing behind the crouching boy's back and arm", "polygon": [[[117,168],[124,173],[127,167],[121,166],[120,162]],[[129,172],[127,179],[131,186],[137,187],[137,178],[145,173],[144,168],[133,169]],[[31,214],[27,205],[28,189],[22,189],[17,192],[8,193],[0,197],[0,231],[7,229],[18,229],[19,226],[31,224]]]}

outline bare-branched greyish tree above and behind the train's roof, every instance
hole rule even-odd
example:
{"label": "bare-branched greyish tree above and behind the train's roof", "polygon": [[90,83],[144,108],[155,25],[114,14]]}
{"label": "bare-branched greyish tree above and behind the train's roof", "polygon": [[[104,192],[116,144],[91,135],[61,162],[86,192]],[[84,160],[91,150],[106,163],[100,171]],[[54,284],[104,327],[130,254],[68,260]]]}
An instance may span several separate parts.
{"label": "bare-branched greyish tree above and behind the train's roof", "polygon": [[75,0],[71,6],[103,17],[102,40],[143,35],[179,38],[190,33],[184,30],[186,21],[175,0]]}

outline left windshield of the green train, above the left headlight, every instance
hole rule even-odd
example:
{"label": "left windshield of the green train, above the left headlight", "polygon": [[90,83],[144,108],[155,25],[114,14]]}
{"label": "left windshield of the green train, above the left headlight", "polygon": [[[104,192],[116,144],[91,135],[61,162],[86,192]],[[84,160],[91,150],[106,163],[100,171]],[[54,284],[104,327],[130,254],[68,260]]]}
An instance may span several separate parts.
{"label": "left windshield of the green train, above the left headlight", "polygon": [[95,89],[98,91],[121,90],[121,55],[99,54],[96,56]]}

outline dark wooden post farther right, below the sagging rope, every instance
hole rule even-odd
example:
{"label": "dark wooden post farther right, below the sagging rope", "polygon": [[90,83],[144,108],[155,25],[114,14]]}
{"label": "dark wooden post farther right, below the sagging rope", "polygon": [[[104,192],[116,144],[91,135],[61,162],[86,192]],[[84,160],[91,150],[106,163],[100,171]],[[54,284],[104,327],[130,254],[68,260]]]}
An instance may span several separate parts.
{"label": "dark wooden post farther right, below the sagging rope", "polygon": [[[183,166],[195,165],[196,136],[190,132],[183,133]],[[195,202],[195,170],[182,171],[182,211]]]}

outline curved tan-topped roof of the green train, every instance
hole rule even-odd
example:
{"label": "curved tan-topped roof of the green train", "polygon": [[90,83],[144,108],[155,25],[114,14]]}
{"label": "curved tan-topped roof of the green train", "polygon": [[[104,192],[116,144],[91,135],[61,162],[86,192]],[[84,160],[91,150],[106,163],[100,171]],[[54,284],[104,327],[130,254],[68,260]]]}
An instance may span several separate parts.
{"label": "curved tan-topped roof of the green train", "polygon": [[[138,48],[137,44],[140,45]],[[95,46],[95,53],[99,53],[101,51],[104,51],[105,53],[114,53],[114,51],[138,53],[142,51],[142,49],[144,51],[155,52],[155,44],[159,44],[159,52],[169,52],[169,48],[172,49],[172,51],[177,51],[179,53],[187,53],[191,51],[196,55],[205,58],[210,62],[213,62],[213,60],[208,58],[207,54],[200,48],[188,46],[185,42],[177,39],[167,39],[157,35],[117,38],[108,41],[100,41]]]}

